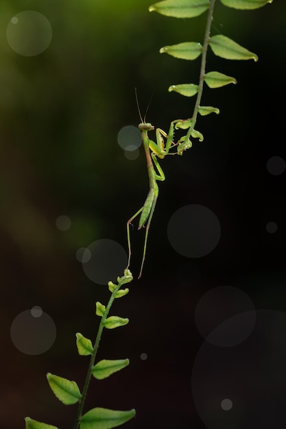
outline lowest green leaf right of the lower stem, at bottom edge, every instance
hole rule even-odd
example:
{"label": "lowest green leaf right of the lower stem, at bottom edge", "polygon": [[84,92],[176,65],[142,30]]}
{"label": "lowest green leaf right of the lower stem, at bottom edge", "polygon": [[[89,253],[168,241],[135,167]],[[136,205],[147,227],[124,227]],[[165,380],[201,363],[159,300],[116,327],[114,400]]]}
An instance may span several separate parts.
{"label": "lowest green leaf right of the lower stem, at bottom edge", "polygon": [[93,408],[82,416],[80,429],[111,429],[132,419],[136,411],[108,410],[108,408]]}

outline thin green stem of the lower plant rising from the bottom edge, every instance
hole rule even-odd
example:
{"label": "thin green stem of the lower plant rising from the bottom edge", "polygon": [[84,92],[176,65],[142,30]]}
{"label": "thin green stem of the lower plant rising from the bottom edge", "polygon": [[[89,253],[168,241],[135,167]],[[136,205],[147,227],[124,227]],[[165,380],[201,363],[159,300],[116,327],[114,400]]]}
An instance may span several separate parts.
{"label": "thin green stem of the lower plant rising from the bottom edge", "polygon": [[112,306],[112,303],[113,303],[113,301],[115,299],[115,293],[117,293],[117,291],[119,291],[119,289],[121,288],[121,286],[122,286],[123,283],[124,283],[123,280],[121,280],[121,282],[119,282],[119,284],[117,284],[117,286],[115,287],[114,291],[112,292],[112,294],[110,296],[108,304],[106,306],[106,310],[104,312],[104,315],[102,316],[102,320],[99,323],[99,328],[98,328],[98,331],[97,331],[97,336],[96,336],[96,339],[95,339],[95,344],[93,346],[93,354],[91,354],[91,360],[89,362],[88,370],[87,370],[87,373],[86,373],[86,380],[84,382],[84,389],[82,389],[82,399],[80,400],[80,404],[78,406],[78,413],[77,413],[77,416],[75,418],[75,424],[73,426],[73,429],[78,429],[79,426],[80,426],[80,419],[82,417],[82,410],[84,408],[84,402],[86,400],[86,394],[87,394],[87,391],[88,391],[89,382],[91,381],[92,369],[93,369],[93,366],[95,364],[95,357],[97,355],[97,351],[98,351],[98,347],[99,347],[99,342],[100,342],[100,339],[102,338],[102,331],[104,329],[104,321],[106,320],[106,317],[108,316],[108,312],[109,312],[109,310],[110,310],[110,308]]}

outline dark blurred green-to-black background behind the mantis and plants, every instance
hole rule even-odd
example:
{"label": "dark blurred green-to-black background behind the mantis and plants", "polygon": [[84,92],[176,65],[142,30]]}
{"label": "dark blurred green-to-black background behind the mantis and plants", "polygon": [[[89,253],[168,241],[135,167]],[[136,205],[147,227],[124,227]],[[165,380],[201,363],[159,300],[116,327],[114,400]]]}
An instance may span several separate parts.
{"label": "dark blurred green-to-black background behind the mantis and plants", "polygon": [[[206,16],[168,19],[150,14],[149,5],[1,1],[1,428],[23,428],[27,415],[62,429],[73,424],[75,406],[57,402],[45,373],[82,387],[87,360],[76,352],[75,332],[93,338],[95,302],[105,303],[109,293],[86,278],[75,254],[100,238],[126,249],[126,221],[147,193],[143,151],[128,160],[117,143],[122,127],[139,123],[134,88],[143,114],[153,96],[147,121],[156,127],[167,130],[171,120],[191,115],[193,99],[167,88],[195,83],[199,60],[158,51],[202,41]],[[52,29],[47,49],[33,56],[8,42],[12,17],[27,10],[43,14]],[[126,428],[204,427],[192,401],[191,365],[202,342],[193,311],[205,291],[235,285],[257,308],[286,309],[285,173],[274,177],[265,167],[271,156],[285,157],[285,16],[283,1],[252,12],[217,1],[213,34],[233,38],[259,62],[209,53],[208,70],[233,75],[238,84],[205,89],[203,104],[221,114],[198,120],[203,143],[161,162],[166,181],[159,184],[143,278],[114,308],[130,325],[104,333],[99,356],[129,357],[131,365],[94,383],[86,408],[134,407],[137,417]],[[211,208],[222,226],[219,246],[200,260],[176,254],[167,240],[169,218],[187,204]],[[67,231],[56,228],[62,215],[71,219]],[[278,234],[265,233],[267,221],[278,223]],[[136,275],[143,247],[136,228],[132,243]],[[36,305],[56,323],[57,336],[45,354],[31,356],[14,347],[10,326]]]}

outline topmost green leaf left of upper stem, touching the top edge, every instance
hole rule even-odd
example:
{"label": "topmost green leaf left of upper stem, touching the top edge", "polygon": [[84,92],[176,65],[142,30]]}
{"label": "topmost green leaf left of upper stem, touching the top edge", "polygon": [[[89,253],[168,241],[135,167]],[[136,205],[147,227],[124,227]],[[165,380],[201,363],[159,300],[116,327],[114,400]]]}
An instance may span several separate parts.
{"label": "topmost green leaf left of upper stem, touching the top edge", "polygon": [[150,6],[149,12],[174,18],[193,18],[207,10],[209,4],[209,0],[163,0]]}

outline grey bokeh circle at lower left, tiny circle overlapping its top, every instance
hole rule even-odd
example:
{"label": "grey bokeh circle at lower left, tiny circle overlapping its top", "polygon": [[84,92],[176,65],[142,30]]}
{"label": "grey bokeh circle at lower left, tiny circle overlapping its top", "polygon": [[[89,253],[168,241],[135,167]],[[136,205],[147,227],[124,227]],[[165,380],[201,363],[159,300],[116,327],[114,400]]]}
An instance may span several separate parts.
{"label": "grey bokeh circle at lower left, tiny circle overlapping its top", "polygon": [[56,325],[39,306],[21,312],[12,321],[10,336],[14,346],[29,355],[47,352],[56,339]]}

